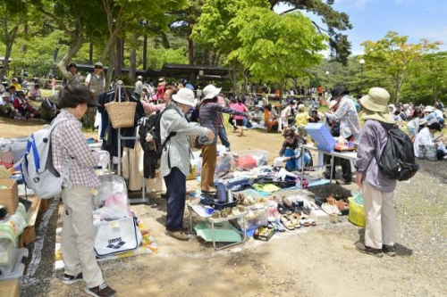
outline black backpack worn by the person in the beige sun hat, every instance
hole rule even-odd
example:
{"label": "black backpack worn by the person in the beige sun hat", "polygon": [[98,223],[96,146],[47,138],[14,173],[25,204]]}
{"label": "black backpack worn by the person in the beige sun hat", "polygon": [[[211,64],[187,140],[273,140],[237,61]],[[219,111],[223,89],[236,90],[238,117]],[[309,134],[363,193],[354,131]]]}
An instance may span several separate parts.
{"label": "black backpack worn by the person in the beige sun hat", "polygon": [[388,140],[377,161],[380,171],[385,177],[399,181],[413,177],[419,165],[415,161],[411,139],[397,126],[382,122],[381,124],[388,131]]}

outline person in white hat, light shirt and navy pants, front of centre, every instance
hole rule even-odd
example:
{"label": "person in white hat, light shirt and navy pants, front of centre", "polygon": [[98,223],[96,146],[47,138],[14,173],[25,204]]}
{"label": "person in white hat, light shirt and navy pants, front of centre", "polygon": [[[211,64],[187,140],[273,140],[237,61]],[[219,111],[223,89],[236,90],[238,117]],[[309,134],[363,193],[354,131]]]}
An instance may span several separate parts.
{"label": "person in white hat, light shirt and navy pants, front of centre", "polygon": [[166,184],[166,235],[179,240],[188,240],[183,233],[185,210],[186,176],[190,174],[190,136],[203,136],[211,141],[215,133],[208,128],[190,124],[184,115],[196,106],[197,99],[189,88],[181,88],[166,106],[160,120],[160,136],[165,144],[160,164]]}

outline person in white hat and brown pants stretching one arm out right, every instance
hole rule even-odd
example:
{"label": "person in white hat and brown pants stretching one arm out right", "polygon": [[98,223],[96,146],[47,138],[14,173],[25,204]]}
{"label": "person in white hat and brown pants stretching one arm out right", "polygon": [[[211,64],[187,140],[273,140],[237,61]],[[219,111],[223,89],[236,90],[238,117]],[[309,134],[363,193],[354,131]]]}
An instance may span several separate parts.
{"label": "person in white hat and brown pants stretching one arm out right", "polygon": [[[248,117],[248,114],[242,111],[235,111],[230,107],[223,107],[217,103],[217,95],[221,88],[208,85],[203,89],[204,98],[200,105],[199,121],[200,125],[213,131],[216,135],[219,128],[219,112],[230,113],[238,116]],[[203,193],[215,193],[215,161],[217,155],[216,139],[207,139],[200,137],[198,140],[202,147],[202,174],[200,187]]]}

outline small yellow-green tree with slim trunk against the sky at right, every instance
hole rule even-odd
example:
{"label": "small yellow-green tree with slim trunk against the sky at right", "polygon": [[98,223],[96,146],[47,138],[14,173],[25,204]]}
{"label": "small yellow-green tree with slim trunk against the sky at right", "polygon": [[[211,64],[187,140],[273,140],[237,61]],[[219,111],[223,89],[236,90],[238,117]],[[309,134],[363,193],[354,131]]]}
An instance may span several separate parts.
{"label": "small yellow-green tree with slim trunk against the sky at right", "polygon": [[418,44],[409,44],[408,36],[399,36],[389,31],[384,38],[373,42],[365,41],[365,60],[371,67],[382,70],[392,78],[392,95],[395,103],[401,98],[401,88],[417,62],[431,51],[437,50],[440,42],[430,43],[421,39]]}

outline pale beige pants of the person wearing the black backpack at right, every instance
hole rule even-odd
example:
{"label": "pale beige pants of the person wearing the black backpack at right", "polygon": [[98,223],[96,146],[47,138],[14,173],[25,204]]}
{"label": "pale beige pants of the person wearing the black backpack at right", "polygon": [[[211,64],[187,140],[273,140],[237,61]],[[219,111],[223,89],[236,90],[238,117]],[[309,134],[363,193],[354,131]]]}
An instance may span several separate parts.
{"label": "pale beige pants of the person wearing the black backpack at right", "polygon": [[394,245],[396,233],[396,213],[392,205],[391,193],[377,191],[363,182],[363,204],[367,216],[365,245],[382,249],[382,245]]}

